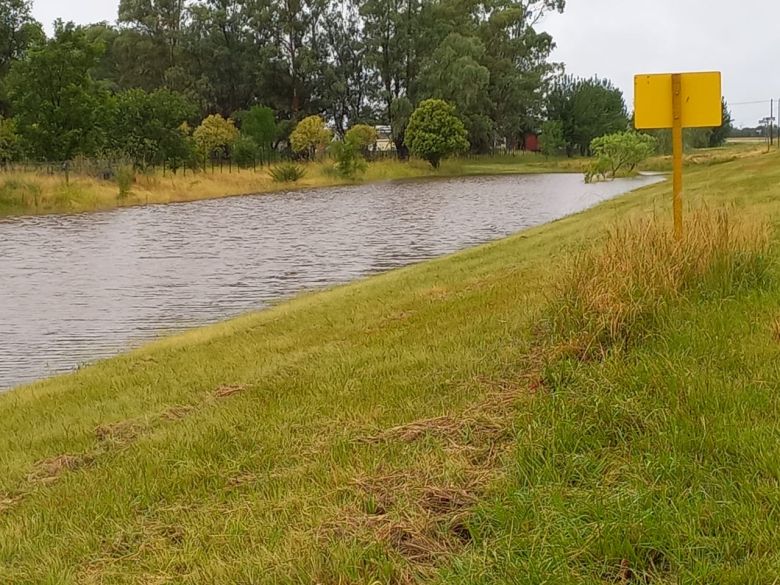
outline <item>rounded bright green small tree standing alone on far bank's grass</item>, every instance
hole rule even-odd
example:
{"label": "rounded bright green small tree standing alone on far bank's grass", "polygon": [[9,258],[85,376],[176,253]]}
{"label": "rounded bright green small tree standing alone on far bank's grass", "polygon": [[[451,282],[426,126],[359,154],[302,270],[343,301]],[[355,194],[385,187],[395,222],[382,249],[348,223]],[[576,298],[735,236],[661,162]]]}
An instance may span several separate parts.
{"label": "rounded bright green small tree standing alone on far bank's grass", "polygon": [[443,100],[430,99],[420,103],[409,120],[406,144],[410,152],[439,168],[449,155],[468,150],[468,132],[455,115],[455,107]]}

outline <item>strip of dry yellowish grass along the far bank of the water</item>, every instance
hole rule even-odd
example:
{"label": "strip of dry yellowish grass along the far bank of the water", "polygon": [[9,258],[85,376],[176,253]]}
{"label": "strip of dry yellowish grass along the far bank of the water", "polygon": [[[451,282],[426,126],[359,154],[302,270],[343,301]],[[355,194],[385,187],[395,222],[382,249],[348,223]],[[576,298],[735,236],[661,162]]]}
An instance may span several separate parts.
{"label": "strip of dry yellowish grass along the far bank of the water", "polygon": [[95,211],[393,179],[561,172],[579,170],[582,164],[582,161],[548,158],[530,153],[447,160],[437,170],[421,161],[403,163],[387,160],[369,164],[360,179],[348,181],[328,172],[330,165],[312,163],[301,165],[306,169],[306,175],[297,183],[275,183],[269,177],[267,168],[259,168],[257,171],[234,168],[229,172],[225,167],[221,172],[217,168],[215,172],[188,172],[186,175],[173,175],[170,172],[165,176],[160,172],[138,174],[130,193],[124,196],[119,195],[119,187],[114,181],[75,175],[66,183],[61,175],[0,173],[0,217]]}

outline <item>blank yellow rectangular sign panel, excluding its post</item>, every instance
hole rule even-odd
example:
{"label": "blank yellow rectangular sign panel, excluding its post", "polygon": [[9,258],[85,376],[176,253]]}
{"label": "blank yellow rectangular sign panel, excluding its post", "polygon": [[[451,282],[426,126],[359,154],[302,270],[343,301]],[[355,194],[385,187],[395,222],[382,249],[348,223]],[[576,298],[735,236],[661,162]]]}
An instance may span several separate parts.
{"label": "blank yellow rectangular sign panel, excluding its post", "polygon": [[[683,73],[683,128],[714,128],[723,123],[719,72]],[[671,128],[672,74],[634,78],[634,117],[638,129]]]}

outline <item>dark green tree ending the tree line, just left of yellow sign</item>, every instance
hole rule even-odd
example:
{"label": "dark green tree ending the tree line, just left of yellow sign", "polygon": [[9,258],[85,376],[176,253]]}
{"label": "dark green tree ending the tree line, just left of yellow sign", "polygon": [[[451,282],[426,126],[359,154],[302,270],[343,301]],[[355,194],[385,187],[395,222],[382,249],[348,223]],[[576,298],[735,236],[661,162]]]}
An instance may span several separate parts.
{"label": "dark green tree ending the tree line, just left of yellow sign", "polygon": [[598,77],[559,78],[548,93],[547,117],[561,123],[569,156],[589,154],[594,138],[624,131],[629,124],[623,93]]}

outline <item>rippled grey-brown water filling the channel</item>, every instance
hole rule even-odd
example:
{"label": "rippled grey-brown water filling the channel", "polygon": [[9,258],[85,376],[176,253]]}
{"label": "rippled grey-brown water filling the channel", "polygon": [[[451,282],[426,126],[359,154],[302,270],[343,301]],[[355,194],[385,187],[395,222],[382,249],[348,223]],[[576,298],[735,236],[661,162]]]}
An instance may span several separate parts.
{"label": "rippled grey-brown water filling the channel", "polygon": [[0,220],[0,388],[656,180],[481,177]]}

